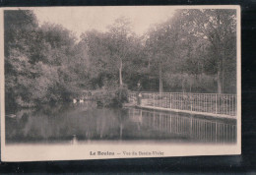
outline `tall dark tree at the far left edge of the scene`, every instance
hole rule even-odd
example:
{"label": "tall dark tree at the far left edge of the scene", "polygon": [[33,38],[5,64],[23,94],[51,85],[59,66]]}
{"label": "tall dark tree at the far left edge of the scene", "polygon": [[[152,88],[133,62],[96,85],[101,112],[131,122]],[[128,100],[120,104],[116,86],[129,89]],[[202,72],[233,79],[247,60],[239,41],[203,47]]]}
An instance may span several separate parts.
{"label": "tall dark tree at the far left edge of the scene", "polygon": [[[7,108],[30,102],[30,87],[35,76],[31,65],[37,20],[32,11],[4,11],[5,101]],[[26,104],[28,105],[28,104]]]}

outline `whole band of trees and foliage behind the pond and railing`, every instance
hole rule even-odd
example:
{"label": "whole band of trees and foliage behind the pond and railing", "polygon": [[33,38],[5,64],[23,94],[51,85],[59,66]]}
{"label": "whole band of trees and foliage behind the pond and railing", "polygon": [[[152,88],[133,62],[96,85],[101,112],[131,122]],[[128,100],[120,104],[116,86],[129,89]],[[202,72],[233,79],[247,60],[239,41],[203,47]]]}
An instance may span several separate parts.
{"label": "whole band of trees and foliage behind the pond and railing", "polygon": [[129,90],[235,92],[233,10],[177,10],[143,36],[123,17],[80,40],[32,11],[5,11],[6,106],[70,101],[83,90],[121,106]]}

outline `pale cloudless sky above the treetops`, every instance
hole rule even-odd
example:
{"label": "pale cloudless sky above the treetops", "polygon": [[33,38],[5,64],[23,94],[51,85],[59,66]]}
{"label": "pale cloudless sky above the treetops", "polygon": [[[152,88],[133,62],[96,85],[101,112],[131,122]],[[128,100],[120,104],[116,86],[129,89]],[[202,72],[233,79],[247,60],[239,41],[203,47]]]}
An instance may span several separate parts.
{"label": "pale cloudless sky above the treetops", "polygon": [[60,24],[78,37],[87,30],[106,31],[107,26],[121,16],[131,19],[133,31],[141,35],[152,25],[172,17],[174,11],[170,6],[43,7],[33,10],[40,25],[44,22]]}

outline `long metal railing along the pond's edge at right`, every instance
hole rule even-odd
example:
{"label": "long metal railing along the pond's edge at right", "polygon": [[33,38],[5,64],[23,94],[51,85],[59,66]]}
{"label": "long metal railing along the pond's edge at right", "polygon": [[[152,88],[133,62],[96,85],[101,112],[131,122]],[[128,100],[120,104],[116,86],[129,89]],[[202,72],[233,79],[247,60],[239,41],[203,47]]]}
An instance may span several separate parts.
{"label": "long metal railing along the pond's edge at right", "polygon": [[235,94],[142,92],[140,98],[137,92],[129,94],[129,102],[140,106],[236,116]]}

